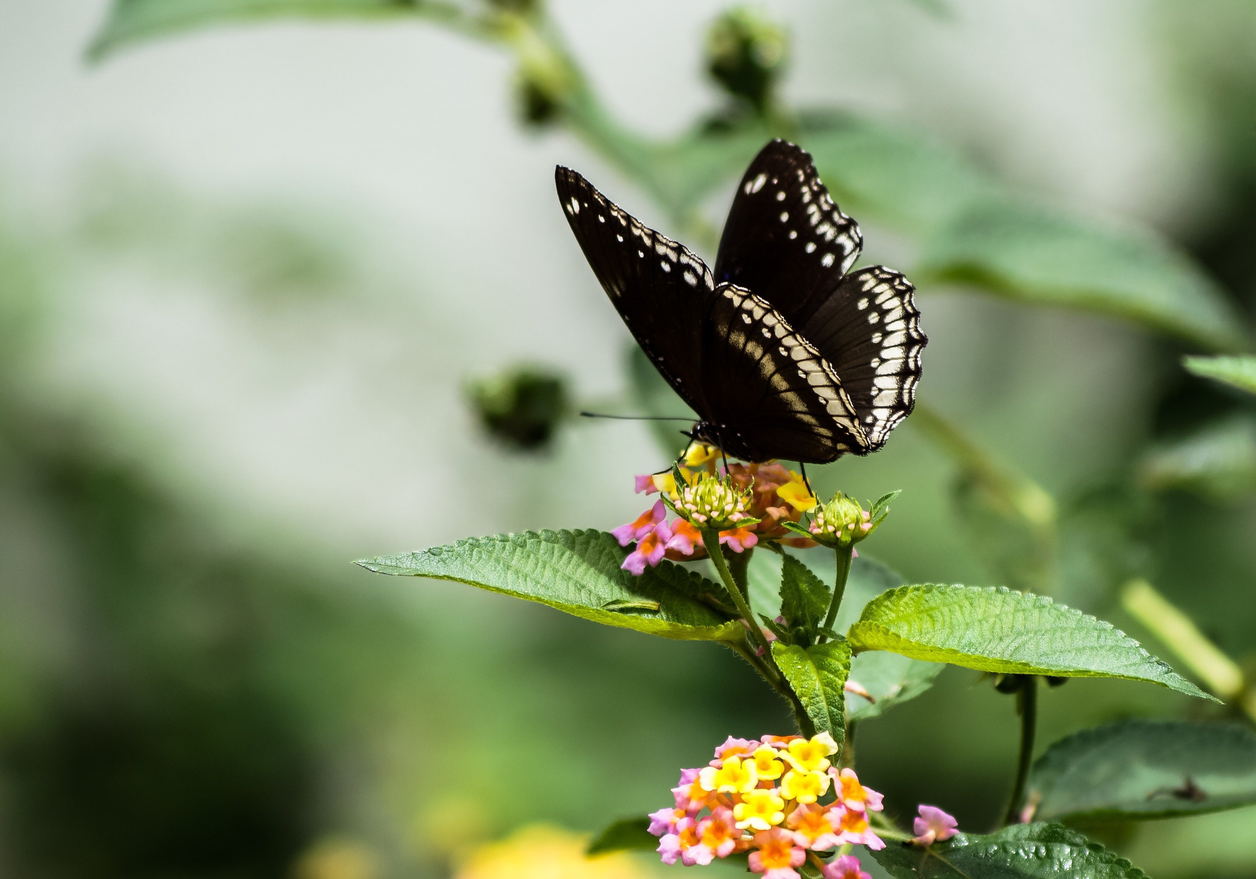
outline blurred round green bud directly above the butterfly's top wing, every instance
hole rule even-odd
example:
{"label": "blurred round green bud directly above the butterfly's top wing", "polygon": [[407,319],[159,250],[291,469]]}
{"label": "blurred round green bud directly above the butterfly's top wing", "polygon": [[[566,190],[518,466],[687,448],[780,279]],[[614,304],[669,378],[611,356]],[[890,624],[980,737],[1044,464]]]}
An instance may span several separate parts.
{"label": "blurred round green bud directly above the butterfly's top wing", "polygon": [[785,30],[745,6],[728,10],[707,31],[707,70],[760,114],[771,100],[788,55]]}

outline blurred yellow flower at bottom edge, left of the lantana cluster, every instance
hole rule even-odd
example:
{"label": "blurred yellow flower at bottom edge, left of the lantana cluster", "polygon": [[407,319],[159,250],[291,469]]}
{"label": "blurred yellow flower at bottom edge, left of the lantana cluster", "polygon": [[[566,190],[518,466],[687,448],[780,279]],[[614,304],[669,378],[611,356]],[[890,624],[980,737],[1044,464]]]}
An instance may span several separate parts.
{"label": "blurred yellow flower at bottom edge, left of the lantana cluster", "polygon": [[587,858],[588,839],[561,828],[534,824],[480,846],[455,879],[646,879],[632,855],[615,851]]}

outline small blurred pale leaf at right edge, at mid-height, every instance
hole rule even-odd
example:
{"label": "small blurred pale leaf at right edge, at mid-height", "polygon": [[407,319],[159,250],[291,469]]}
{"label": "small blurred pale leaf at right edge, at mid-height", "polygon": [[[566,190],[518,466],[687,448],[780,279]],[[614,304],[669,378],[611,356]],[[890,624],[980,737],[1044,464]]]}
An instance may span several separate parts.
{"label": "small blurred pale leaf at right edge, at mid-height", "polygon": [[1256,419],[1235,416],[1158,443],[1139,462],[1139,481],[1152,491],[1191,491],[1235,501],[1256,490]]}

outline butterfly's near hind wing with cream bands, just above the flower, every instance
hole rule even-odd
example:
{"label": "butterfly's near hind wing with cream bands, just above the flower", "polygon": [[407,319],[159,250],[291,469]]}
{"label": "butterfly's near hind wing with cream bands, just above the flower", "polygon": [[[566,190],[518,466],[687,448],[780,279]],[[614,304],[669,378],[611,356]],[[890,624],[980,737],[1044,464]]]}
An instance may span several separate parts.
{"label": "butterfly's near hind wing with cream bands, just above the flower", "polygon": [[703,324],[718,441],[747,461],[826,463],[868,446],[834,367],[766,300],[721,284]]}

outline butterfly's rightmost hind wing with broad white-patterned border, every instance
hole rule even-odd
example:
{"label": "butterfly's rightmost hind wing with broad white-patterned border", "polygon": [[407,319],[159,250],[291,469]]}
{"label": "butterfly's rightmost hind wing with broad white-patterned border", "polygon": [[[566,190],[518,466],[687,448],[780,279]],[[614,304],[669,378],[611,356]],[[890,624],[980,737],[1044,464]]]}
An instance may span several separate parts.
{"label": "butterfly's rightmost hind wing with broad white-patterned border", "polygon": [[921,380],[921,332],[914,288],[884,266],[859,269],[805,320],[800,333],[831,363],[875,452],[912,412]]}

